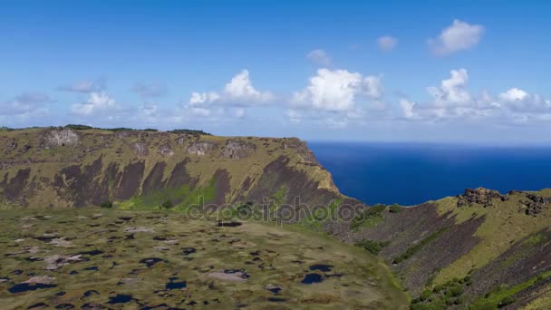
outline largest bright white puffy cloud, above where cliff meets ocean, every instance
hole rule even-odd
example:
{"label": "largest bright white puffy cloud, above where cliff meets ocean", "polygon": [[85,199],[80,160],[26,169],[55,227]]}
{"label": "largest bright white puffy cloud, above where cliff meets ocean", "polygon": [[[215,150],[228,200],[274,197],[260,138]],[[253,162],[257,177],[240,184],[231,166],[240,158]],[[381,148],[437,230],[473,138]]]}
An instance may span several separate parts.
{"label": "largest bright white puffy cloud, above where cliff meets ocean", "polygon": [[346,70],[319,69],[301,92],[295,92],[296,107],[320,111],[353,111],[359,97],[378,99],[382,95],[379,77],[362,77],[360,73]]}

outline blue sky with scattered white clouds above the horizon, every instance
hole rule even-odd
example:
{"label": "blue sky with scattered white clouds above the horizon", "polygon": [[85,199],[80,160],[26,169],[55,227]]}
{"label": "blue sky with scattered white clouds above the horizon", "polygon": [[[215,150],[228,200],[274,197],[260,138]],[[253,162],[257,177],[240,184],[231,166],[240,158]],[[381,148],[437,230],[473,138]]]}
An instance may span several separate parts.
{"label": "blue sky with scattered white clouds above the horizon", "polygon": [[551,143],[544,1],[0,3],[0,126]]}

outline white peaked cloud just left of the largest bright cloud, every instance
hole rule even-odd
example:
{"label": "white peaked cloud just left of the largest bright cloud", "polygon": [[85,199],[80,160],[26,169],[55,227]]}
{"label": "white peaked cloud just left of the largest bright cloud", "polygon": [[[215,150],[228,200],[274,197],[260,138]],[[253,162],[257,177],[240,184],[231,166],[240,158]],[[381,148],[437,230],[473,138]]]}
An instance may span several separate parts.
{"label": "white peaked cloud just left of the largest bright cloud", "polygon": [[221,92],[192,92],[185,111],[197,116],[212,116],[226,109],[237,118],[245,115],[246,108],[263,105],[274,100],[271,92],[256,90],[247,70],[237,73]]}

